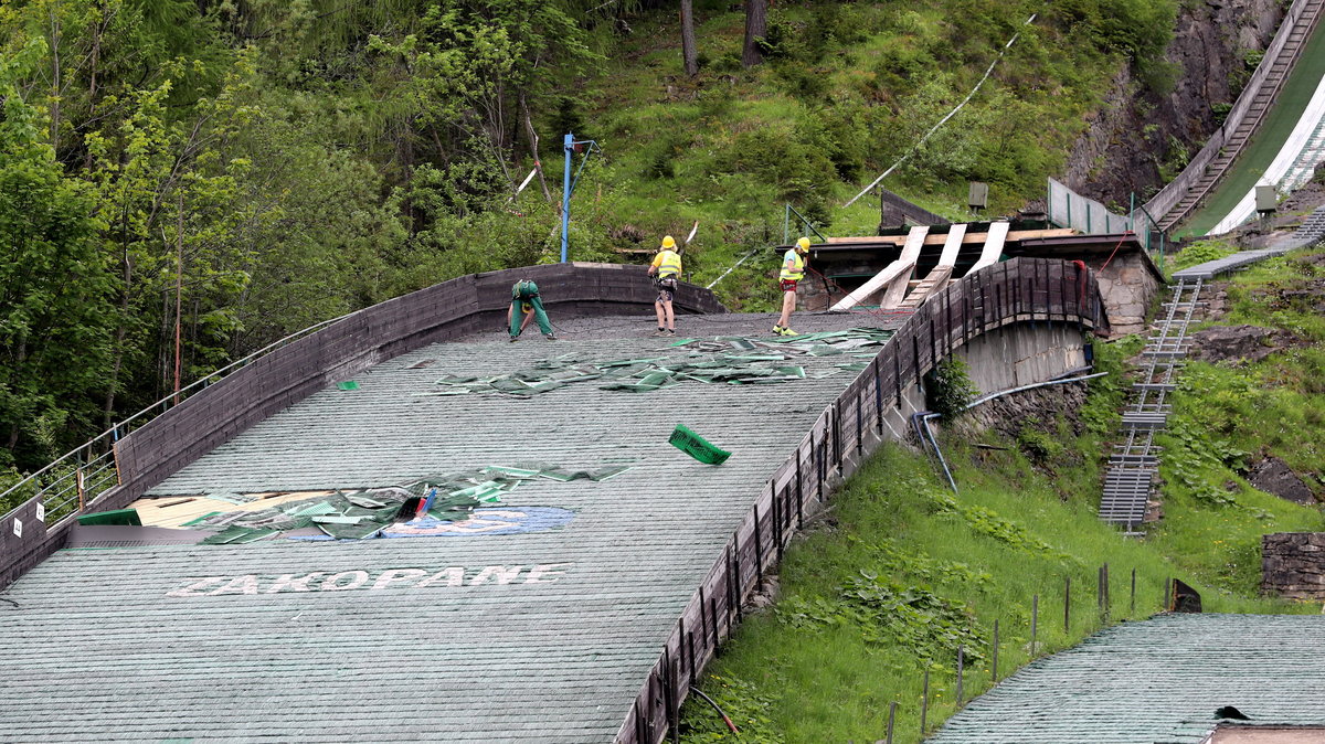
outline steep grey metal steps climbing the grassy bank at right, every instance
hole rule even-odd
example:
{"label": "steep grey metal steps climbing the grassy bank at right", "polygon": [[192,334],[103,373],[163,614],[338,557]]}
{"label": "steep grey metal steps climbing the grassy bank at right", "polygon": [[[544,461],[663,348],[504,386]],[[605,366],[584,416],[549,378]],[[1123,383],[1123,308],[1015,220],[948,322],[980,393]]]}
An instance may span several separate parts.
{"label": "steep grey metal steps climbing the grassy bank at right", "polygon": [[1126,526],[1129,535],[1145,520],[1146,504],[1159,473],[1159,450],[1154,434],[1167,426],[1173,405],[1169,393],[1175,388],[1174,373],[1182,365],[1191,342],[1187,327],[1200,302],[1203,279],[1179,279],[1171,298],[1163,303],[1165,315],[1154,326],[1141,352],[1141,381],[1132,385],[1133,400],[1122,413],[1122,443],[1113,446],[1104,475],[1100,519]]}

